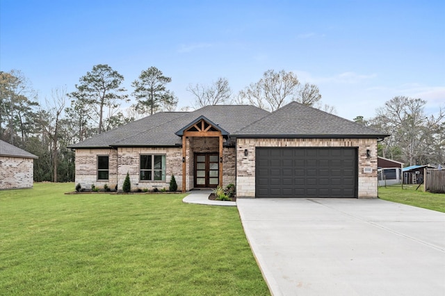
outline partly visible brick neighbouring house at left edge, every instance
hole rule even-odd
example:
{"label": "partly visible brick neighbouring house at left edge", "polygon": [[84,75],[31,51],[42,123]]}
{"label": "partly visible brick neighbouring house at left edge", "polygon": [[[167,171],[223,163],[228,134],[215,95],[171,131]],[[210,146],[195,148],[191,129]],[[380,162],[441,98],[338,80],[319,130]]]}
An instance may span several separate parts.
{"label": "partly visible brick neighbouring house at left edge", "polygon": [[38,157],[0,140],[0,190],[32,188],[35,158]]}

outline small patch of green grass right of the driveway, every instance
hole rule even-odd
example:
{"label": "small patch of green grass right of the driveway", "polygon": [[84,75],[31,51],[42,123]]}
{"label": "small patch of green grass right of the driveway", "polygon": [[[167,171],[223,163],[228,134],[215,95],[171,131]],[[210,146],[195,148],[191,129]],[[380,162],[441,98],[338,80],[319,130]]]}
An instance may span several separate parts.
{"label": "small patch of green grass right of the driveway", "polygon": [[403,189],[400,185],[379,187],[378,197],[390,202],[409,204],[445,213],[445,194],[423,192],[423,185],[416,190],[417,186],[403,185]]}

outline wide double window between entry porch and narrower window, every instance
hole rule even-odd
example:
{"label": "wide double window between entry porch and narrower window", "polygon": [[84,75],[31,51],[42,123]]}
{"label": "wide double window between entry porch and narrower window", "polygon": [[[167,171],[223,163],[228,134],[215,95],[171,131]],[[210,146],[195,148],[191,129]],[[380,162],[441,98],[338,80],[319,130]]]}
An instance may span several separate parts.
{"label": "wide double window between entry porch and narrower window", "polygon": [[165,155],[140,155],[140,181],[165,181]]}

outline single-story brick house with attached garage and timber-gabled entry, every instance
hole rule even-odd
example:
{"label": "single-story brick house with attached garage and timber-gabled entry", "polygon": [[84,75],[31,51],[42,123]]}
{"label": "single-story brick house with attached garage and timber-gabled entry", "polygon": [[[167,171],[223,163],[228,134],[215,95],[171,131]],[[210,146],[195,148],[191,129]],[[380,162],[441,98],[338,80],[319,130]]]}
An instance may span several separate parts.
{"label": "single-story brick house with attached garage and timber-gabled entry", "polygon": [[183,192],[236,185],[238,197],[377,197],[385,134],[297,102],[269,113],[205,106],[156,113],[71,145],[76,183]]}

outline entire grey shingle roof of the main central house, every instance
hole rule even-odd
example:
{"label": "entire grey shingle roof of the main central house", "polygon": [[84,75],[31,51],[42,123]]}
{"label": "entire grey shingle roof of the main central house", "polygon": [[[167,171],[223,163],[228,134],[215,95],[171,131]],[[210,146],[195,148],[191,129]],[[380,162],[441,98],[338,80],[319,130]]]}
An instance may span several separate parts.
{"label": "entire grey shingle roof of the main central house", "polygon": [[205,117],[238,138],[382,138],[385,134],[321,110],[291,102],[269,113],[254,106],[205,106],[193,112],[161,112],[95,135],[70,148],[176,146],[176,133]]}

